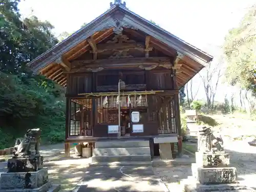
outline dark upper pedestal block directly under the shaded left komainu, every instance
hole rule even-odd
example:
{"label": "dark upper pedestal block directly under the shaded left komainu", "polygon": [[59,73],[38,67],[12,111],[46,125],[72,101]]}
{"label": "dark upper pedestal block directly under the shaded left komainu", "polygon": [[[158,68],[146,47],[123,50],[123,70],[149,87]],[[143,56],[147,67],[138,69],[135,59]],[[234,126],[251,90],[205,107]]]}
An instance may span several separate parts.
{"label": "dark upper pedestal block directly under the shaded left komainu", "polygon": [[12,158],[8,160],[8,173],[36,172],[42,168],[44,157]]}

